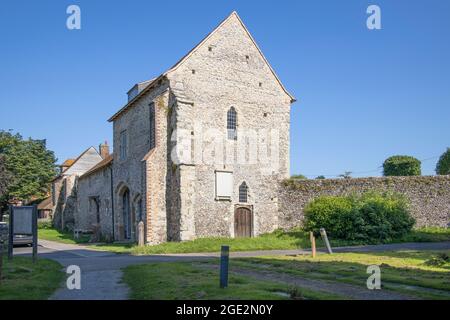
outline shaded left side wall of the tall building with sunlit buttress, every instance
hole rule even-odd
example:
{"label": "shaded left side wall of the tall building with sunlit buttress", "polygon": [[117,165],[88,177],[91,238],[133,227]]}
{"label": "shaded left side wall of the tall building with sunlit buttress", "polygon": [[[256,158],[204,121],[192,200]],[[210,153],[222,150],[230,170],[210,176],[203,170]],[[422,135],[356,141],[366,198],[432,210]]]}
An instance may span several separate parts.
{"label": "shaded left side wall of the tall building with sunlit buttress", "polygon": [[[150,105],[156,111],[156,147],[150,149]],[[120,147],[114,148],[113,190],[116,240],[124,239],[122,196],[130,193],[131,240],[136,240],[137,211],[147,212],[147,241],[166,240],[165,179],[167,146],[168,83],[161,82],[135,102],[133,108],[114,121],[114,145],[120,146],[120,133],[126,131],[127,155],[120,159]],[[141,202],[142,201],[142,202]],[[139,203],[142,208],[139,208]]]}

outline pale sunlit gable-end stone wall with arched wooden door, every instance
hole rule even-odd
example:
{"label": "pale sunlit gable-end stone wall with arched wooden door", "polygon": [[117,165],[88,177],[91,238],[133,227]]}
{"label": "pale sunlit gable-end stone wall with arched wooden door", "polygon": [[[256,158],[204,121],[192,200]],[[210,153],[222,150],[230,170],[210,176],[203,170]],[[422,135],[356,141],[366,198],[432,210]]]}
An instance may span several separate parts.
{"label": "pale sunlit gable-end stone wall with arched wooden door", "polygon": [[[195,71],[195,72],[194,72]],[[180,166],[180,240],[206,236],[234,236],[234,212],[238,205],[252,208],[253,235],[278,227],[277,181],[289,173],[289,124],[292,98],[286,94],[255,46],[241,21],[232,15],[177,69],[168,74],[176,96],[176,129],[203,132],[215,129],[226,137],[227,111],[238,115],[238,140],[227,140],[236,154],[246,129],[278,129],[280,165],[266,172],[260,163],[221,162]],[[185,103],[189,101],[190,103]],[[206,144],[195,145],[204,151]],[[200,152],[201,152],[200,151]],[[233,196],[215,199],[216,170],[233,174]],[[245,181],[249,200],[239,203],[238,188]],[[177,238],[177,237],[174,237]]]}

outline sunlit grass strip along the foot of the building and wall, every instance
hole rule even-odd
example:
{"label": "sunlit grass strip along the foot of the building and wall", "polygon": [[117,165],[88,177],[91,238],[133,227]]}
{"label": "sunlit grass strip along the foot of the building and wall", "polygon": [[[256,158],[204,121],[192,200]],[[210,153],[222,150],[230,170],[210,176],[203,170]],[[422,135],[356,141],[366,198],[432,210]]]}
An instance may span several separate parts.
{"label": "sunlit grass strip along the foot of the building and wall", "polygon": [[[55,229],[39,229],[39,238],[71,244],[86,244],[92,249],[131,254],[167,254],[190,252],[218,252],[221,245],[229,245],[233,251],[255,251],[275,249],[310,248],[309,234],[301,230],[288,232],[275,231],[255,238],[200,238],[193,241],[166,242],[154,246],[137,247],[131,244],[88,244],[88,236],[73,239],[72,234],[61,233]],[[330,239],[331,245],[348,246],[364,244],[358,241],[344,241]],[[450,241],[450,229],[422,228],[413,230],[409,235],[391,241],[394,242],[433,242]],[[323,247],[321,239],[317,239],[317,246]]]}

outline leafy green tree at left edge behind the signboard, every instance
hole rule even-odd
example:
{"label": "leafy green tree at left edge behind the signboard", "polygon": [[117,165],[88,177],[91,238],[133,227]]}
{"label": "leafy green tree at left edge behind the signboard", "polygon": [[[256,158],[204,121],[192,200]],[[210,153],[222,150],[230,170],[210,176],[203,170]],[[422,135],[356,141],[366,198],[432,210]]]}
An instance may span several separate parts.
{"label": "leafy green tree at left edge behind the signboard", "polygon": [[11,177],[3,182],[0,208],[11,198],[28,202],[47,194],[56,175],[56,158],[47,150],[45,140],[23,140],[19,134],[0,131],[0,155],[4,171]]}

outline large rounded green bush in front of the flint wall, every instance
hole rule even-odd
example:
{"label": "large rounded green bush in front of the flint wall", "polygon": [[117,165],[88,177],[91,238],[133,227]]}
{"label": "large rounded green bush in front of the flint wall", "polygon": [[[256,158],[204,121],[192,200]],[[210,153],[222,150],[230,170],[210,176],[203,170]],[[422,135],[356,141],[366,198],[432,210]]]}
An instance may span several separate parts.
{"label": "large rounded green bush in front of the flint wall", "polygon": [[305,207],[304,228],[318,234],[325,228],[336,239],[380,243],[411,231],[414,219],[406,200],[397,194],[322,196]]}

